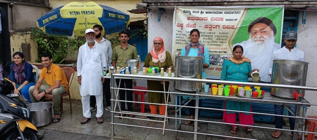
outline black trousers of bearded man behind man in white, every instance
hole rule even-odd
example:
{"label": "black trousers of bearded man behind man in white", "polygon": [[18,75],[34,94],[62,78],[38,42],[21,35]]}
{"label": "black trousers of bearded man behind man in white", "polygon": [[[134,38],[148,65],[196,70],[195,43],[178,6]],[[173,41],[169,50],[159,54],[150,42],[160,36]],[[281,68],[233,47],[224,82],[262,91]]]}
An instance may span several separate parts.
{"label": "black trousers of bearded man behind man in white", "polygon": [[[103,99],[106,100],[107,107],[111,105],[110,80],[111,80],[110,78],[106,78],[104,79],[104,82],[102,84]],[[96,106],[96,96],[90,96],[90,107],[95,107],[95,106]]]}

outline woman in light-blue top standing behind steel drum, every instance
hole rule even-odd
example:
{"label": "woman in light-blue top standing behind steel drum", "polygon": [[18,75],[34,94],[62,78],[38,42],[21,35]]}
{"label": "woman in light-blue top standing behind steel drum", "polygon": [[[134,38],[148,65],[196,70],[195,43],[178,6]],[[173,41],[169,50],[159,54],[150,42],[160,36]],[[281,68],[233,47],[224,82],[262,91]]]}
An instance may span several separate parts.
{"label": "woman in light-blue top standing behind steel drum", "polygon": [[[200,45],[199,37],[200,37],[200,33],[197,29],[193,29],[192,31],[190,31],[191,42],[187,46],[183,47],[180,55],[181,56],[196,56],[196,57],[203,58],[204,61],[203,61],[202,77],[206,78],[205,69],[209,67],[209,51],[208,51],[208,48],[206,46]],[[189,97],[183,96],[183,98],[187,99]],[[191,100],[187,105],[188,106],[195,106],[195,103],[196,103],[195,100],[196,100],[196,98],[194,98],[194,100]],[[201,100],[199,100],[198,106],[201,107]],[[195,114],[195,108],[189,108],[189,115],[190,115],[191,120],[194,120],[194,114]],[[198,117],[199,117],[199,114],[200,114],[200,109],[198,109]],[[192,122],[193,121],[187,120],[187,121],[185,121],[185,124],[188,125]],[[197,131],[198,130],[200,130],[199,125],[197,127]]]}

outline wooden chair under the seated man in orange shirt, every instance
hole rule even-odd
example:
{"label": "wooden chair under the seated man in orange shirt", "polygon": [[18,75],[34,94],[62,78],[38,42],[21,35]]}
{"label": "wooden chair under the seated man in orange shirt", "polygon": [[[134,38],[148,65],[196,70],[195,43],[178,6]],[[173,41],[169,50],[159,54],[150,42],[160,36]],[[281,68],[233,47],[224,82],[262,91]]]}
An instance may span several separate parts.
{"label": "wooden chair under the seated man in orange shirt", "polygon": [[[75,74],[75,70],[72,67],[63,67],[61,68],[66,76],[67,82],[68,82],[68,87],[70,88],[70,86],[72,85],[72,81],[74,78],[74,74]],[[53,95],[52,94],[45,94],[45,101],[48,100],[53,100]],[[70,97],[70,92],[69,89],[65,94],[61,94],[60,95],[60,110],[63,110],[63,97],[64,96],[68,96],[69,98],[69,106],[70,106],[70,113],[72,114],[72,99]]]}

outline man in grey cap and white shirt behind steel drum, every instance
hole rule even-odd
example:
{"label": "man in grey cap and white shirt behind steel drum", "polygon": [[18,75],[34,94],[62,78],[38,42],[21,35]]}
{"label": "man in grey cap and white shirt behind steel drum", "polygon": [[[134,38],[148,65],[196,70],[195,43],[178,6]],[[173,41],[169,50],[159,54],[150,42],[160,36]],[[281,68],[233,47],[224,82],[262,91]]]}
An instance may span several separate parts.
{"label": "man in grey cap and white shirt behind steel drum", "polygon": [[[299,60],[299,61],[304,61],[304,52],[298,50],[295,48],[295,44],[297,42],[297,33],[294,31],[289,31],[285,34],[284,42],[286,43],[286,46],[283,48],[275,51],[272,54],[272,59],[271,59],[271,66],[270,66],[270,71],[269,75],[271,76],[272,74],[272,66],[273,66],[273,61],[277,59],[284,59],[284,60]],[[295,111],[295,106],[290,105],[289,106],[293,111]],[[283,115],[283,110],[284,110],[284,105],[274,105],[274,110],[276,115]],[[290,111],[288,111],[289,116],[294,116]],[[289,123],[290,123],[290,129],[294,130],[295,127],[295,118],[288,118]],[[280,116],[275,116],[275,128],[282,129],[283,126],[283,117]],[[292,132],[292,136],[293,136]],[[272,137],[278,139],[279,136],[281,135],[281,130],[276,130],[275,132],[272,133]],[[297,138],[300,139],[300,135],[297,134]]]}

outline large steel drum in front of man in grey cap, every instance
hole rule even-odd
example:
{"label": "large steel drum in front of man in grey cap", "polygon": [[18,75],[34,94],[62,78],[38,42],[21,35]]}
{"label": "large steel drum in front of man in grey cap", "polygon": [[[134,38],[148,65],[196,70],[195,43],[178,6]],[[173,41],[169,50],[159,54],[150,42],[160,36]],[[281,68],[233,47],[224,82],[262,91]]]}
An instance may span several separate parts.
{"label": "large steel drum in front of man in grey cap", "polygon": [[[272,67],[272,84],[306,86],[308,63],[296,60],[274,60]],[[295,99],[293,92],[305,95],[305,90],[289,88],[272,88],[271,94],[285,99]]]}

